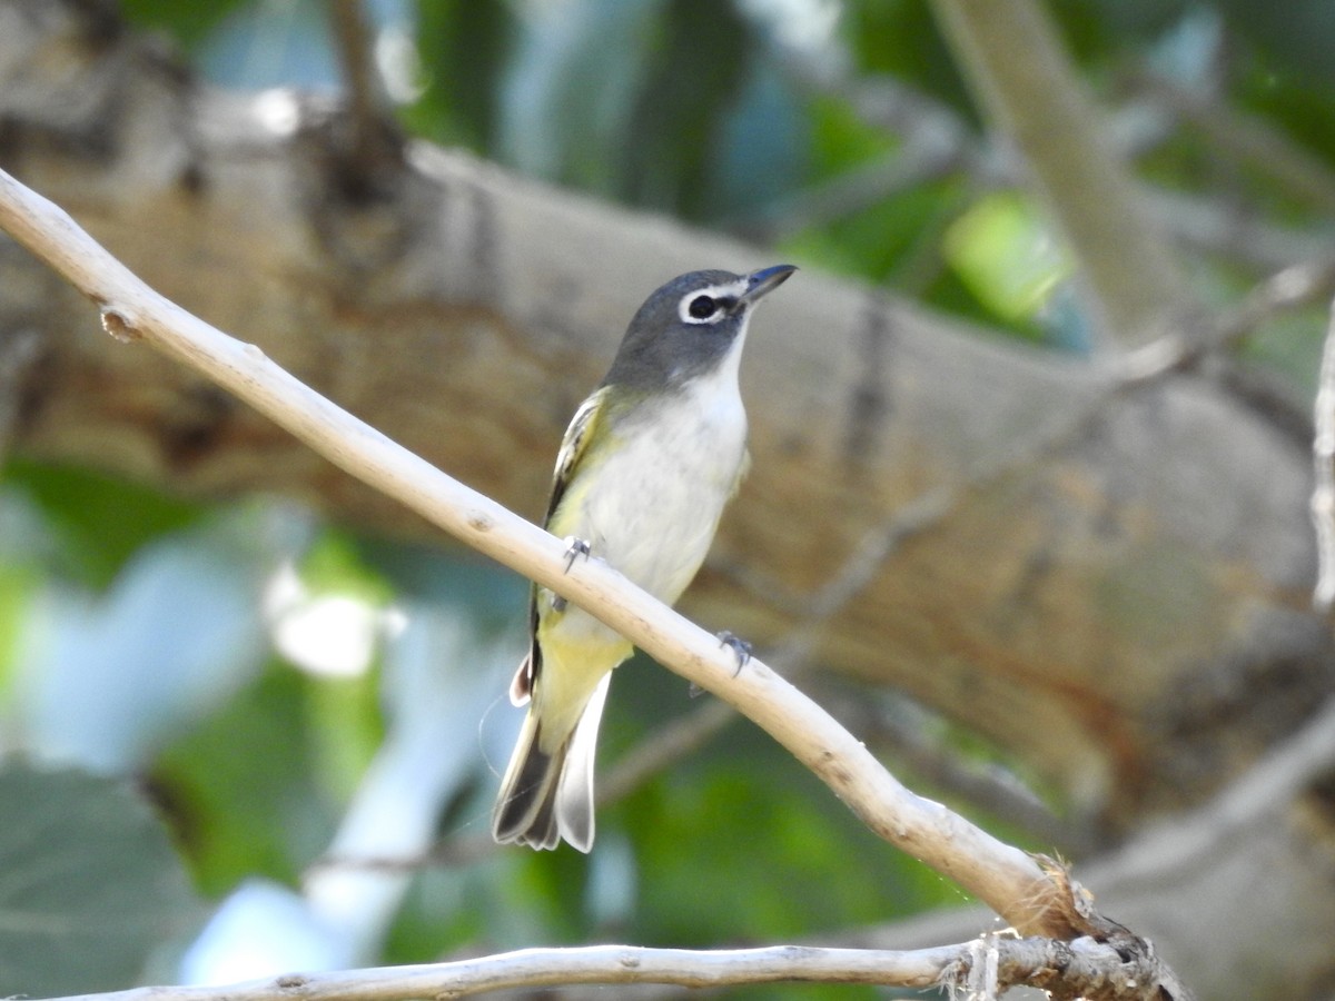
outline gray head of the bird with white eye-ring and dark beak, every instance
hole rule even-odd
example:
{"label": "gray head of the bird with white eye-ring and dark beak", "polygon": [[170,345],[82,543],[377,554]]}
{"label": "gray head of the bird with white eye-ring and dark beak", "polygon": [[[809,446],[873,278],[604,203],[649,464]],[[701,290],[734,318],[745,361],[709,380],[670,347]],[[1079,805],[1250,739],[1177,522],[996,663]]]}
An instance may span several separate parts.
{"label": "gray head of the bird with white eye-ring and dark beak", "polygon": [[630,320],[603,384],[653,392],[713,371],[746,330],[760,298],[794,271],[776,264],[749,275],[692,271],[674,278]]}

